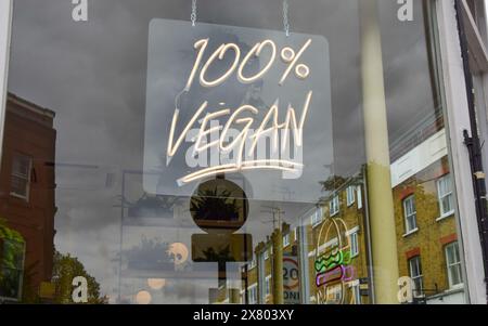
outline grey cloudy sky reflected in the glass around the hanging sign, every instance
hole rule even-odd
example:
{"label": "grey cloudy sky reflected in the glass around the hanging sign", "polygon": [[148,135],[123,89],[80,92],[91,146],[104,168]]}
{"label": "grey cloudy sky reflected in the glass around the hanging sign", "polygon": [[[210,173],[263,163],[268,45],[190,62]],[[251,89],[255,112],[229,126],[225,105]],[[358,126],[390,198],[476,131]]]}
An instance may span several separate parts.
{"label": "grey cloudy sky reflected in the glass around the hanging sign", "polygon": [[[307,0],[306,5],[290,1],[292,31],[322,35],[330,43],[337,174],[354,173],[364,162],[357,1]],[[88,2],[89,22],[74,23],[70,1],[43,0],[39,5],[37,0],[15,0],[9,90],[56,112],[57,161],[97,166],[56,170],[55,245],[79,257],[102,290],[114,297],[120,230],[120,208],[114,206],[119,204],[121,170],[140,171],[143,164],[149,22],[189,19],[190,1]],[[206,23],[275,30],[282,26],[281,0],[198,2],[198,17]],[[415,1],[415,22],[400,24],[396,2],[381,0],[393,135],[432,109],[420,2]],[[114,175],[111,182],[106,182],[108,173]],[[140,178],[126,183],[126,196],[132,201],[142,190]],[[246,224],[255,245],[271,234],[272,224],[262,223],[271,219],[262,212],[264,205],[273,203],[252,204]],[[287,221],[307,210],[298,204],[278,205]],[[124,247],[136,246],[144,234],[153,236],[153,227],[127,230]],[[160,238],[178,238],[190,246],[190,232],[180,230],[175,236],[179,229],[157,230]],[[143,281],[125,279],[123,294],[147,289]],[[206,302],[207,289],[215,285],[215,279],[174,279],[154,300]],[[191,287],[194,292],[188,290]]]}

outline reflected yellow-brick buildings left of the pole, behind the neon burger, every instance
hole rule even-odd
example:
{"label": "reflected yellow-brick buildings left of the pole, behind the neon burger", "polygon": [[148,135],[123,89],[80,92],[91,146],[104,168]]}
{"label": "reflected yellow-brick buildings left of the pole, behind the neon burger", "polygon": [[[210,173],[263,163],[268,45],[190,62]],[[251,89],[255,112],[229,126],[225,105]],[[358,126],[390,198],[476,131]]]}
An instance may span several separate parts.
{"label": "reflected yellow-brick buildings left of the pole, behind the neon burger", "polygon": [[[343,180],[342,185],[301,220],[298,225],[283,225],[283,253],[298,257],[300,261],[300,298],[301,303],[320,303],[339,301],[342,303],[369,303],[368,290],[360,291],[360,279],[368,279],[368,250],[365,229],[365,206],[362,178]],[[339,226],[338,229],[335,225]],[[305,234],[306,237],[300,236]],[[317,286],[316,262],[321,257],[335,257],[337,250],[347,252],[347,258],[339,264],[347,272],[337,282]],[[268,239],[256,249],[255,259],[243,269],[243,278],[247,276],[247,297],[249,303],[273,303],[272,297],[272,243]],[[319,257],[318,257],[319,255]],[[260,264],[264,264],[260,268]],[[339,268],[336,265],[335,268]],[[247,268],[247,273],[245,269]],[[334,270],[334,266],[331,266]],[[306,274],[304,274],[304,272]],[[329,270],[328,270],[329,272]],[[347,275],[346,275],[347,274]],[[368,283],[368,282],[365,282]],[[344,286],[344,287],[342,287]],[[241,291],[245,299],[245,284]],[[307,290],[304,288],[307,287]],[[337,290],[342,294],[337,294]],[[334,292],[335,291],[335,292]],[[335,295],[337,295],[335,297]],[[326,298],[329,296],[329,298]],[[338,298],[338,299],[337,299]],[[337,300],[336,300],[337,299]]]}

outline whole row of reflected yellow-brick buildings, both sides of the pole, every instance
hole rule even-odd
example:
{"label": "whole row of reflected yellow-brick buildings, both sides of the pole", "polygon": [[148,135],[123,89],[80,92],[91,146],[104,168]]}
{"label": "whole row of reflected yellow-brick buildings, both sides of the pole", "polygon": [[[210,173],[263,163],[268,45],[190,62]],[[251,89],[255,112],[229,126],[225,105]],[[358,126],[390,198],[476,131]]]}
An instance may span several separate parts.
{"label": "whole row of reflected yellow-brick buildings, both sides of the pole", "polygon": [[[403,151],[391,164],[391,190],[394,194],[395,222],[398,249],[398,266],[400,276],[410,276],[415,300],[426,303],[462,303],[464,302],[463,272],[454,219],[454,185],[449,171],[445,129],[429,133],[427,136]],[[341,179],[341,178],[338,178]],[[334,182],[335,183],[335,182]],[[296,225],[285,225],[284,253],[292,248],[298,257],[307,257],[305,269],[306,286],[310,297],[300,298],[304,302],[369,303],[370,292],[361,291],[360,281],[368,283],[370,258],[368,255],[368,234],[365,223],[365,201],[362,178],[338,180],[341,186],[334,188],[322,203],[321,208],[311,216],[299,219],[301,230],[307,235],[306,240],[297,237]],[[344,227],[323,238],[319,234],[328,230],[332,221],[343,223]],[[334,227],[332,227],[334,230]],[[290,232],[291,231],[291,232]],[[286,239],[285,239],[286,237]],[[323,291],[323,286],[316,285],[318,275],[314,266],[317,252],[329,255],[328,248],[334,252],[337,238],[349,238],[349,247],[342,245],[350,252],[350,261],[345,263],[355,271],[352,277],[344,284],[345,296],[334,300],[335,292]],[[305,245],[305,250],[300,246]],[[339,246],[341,247],[341,246]],[[242,299],[247,292],[251,303],[272,303],[272,244],[268,239],[256,248],[253,263],[243,269]],[[341,248],[338,248],[341,249]],[[301,252],[301,253],[300,253]],[[321,253],[322,252],[322,253]],[[304,255],[305,253],[305,255]],[[294,253],[293,256],[296,256]],[[373,258],[374,259],[374,258]],[[264,269],[259,268],[264,263]],[[373,260],[374,262],[374,260]],[[300,264],[300,273],[304,273]],[[247,270],[247,272],[246,272]],[[245,288],[247,287],[247,291]],[[367,289],[368,287],[364,287]],[[341,291],[339,288],[337,288]],[[319,295],[318,295],[319,294]]]}

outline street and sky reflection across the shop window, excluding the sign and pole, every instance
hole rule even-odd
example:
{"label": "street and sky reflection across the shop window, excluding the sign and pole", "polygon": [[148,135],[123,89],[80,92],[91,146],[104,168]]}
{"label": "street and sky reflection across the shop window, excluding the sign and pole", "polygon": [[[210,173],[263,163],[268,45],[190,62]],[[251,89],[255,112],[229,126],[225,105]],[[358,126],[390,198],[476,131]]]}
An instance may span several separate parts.
{"label": "street and sky reflection across the shop window, excluding the sign and pole", "polygon": [[[307,184],[273,186],[259,171],[269,200],[252,197],[237,173],[224,180],[242,194],[209,187],[192,200],[216,178],[192,184],[185,196],[144,186],[144,179],[156,180],[165,188],[181,177],[144,168],[149,38],[141,35],[155,17],[187,22],[182,1],[103,1],[81,26],[63,18],[66,1],[46,0],[33,17],[35,1],[16,0],[0,177],[0,297],[70,303],[79,287],[73,279],[82,276],[88,303],[368,304],[380,302],[374,277],[398,269],[412,282],[413,302],[463,302],[429,1],[414,1],[419,18],[409,24],[397,21],[395,1],[378,1],[389,158],[382,168],[391,182],[375,205],[390,201],[394,232],[385,248],[397,259],[394,268],[375,264],[359,1],[291,1],[292,32],[324,36],[330,44],[332,117],[329,125],[312,121],[312,131],[331,126],[326,142],[334,147],[330,155],[305,147],[319,167],[309,182],[313,198],[296,200]],[[202,22],[281,32],[281,1],[205,2]],[[194,58],[174,56],[168,69]],[[180,87],[166,82],[171,92]],[[236,96],[223,90],[222,99],[266,112],[274,100],[262,96],[267,87],[255,82]],[[239,203],[244,197],[247,204]],[[389,294],[398,290],[395,278]]]}

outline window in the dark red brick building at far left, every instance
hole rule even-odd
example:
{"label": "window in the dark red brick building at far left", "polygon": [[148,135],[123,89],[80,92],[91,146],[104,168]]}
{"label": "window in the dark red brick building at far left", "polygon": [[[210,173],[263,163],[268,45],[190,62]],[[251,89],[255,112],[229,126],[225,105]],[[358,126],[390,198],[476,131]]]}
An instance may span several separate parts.
{"label": "window in the dark red brick building at far left", "polygon": [[28,156],[15,154],[12,160],[11,195],[28,199],[30,170],[33,159]]}

